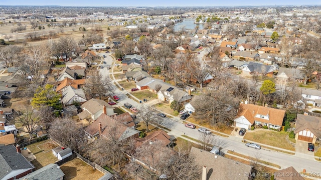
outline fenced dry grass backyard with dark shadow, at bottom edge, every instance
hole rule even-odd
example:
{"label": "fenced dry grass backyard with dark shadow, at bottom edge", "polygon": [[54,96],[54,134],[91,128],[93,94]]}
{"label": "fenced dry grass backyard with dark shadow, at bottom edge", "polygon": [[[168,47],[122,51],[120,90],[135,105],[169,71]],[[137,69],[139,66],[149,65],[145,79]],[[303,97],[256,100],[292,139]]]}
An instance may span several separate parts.
{"label": "fenced dry grass backyard with dark shadow, at bottom edge", "polygon": [[86,164],[79,158],[74,158],[60,166],[61,170],[65,173],[65,180],[97,180],[104,174],[98,170],[94,170],[93,167]]}

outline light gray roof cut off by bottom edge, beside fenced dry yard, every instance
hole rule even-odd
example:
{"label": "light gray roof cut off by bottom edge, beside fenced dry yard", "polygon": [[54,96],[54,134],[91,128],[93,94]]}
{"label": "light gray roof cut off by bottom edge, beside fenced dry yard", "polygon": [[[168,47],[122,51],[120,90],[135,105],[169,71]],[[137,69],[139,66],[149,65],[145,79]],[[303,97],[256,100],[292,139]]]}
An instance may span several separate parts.
{"label": "light gray roof cut off by bottom edge, beside fenced dry yard", "polygon": [[61,170],[59,165],[56,163],[50,163],[40,169],[31,172],[30,174],[20,178],[21,180],[63,180],[65,173]]}

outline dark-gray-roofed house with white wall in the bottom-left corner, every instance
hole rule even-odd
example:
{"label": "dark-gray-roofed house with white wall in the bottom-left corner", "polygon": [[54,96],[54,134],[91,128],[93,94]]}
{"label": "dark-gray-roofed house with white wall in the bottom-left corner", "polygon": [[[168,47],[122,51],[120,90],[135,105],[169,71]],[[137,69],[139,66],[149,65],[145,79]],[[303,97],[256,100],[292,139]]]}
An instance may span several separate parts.
{"label": "dark-gray-roofed house with white wall in the bottom-left corner", "polygon": [[0,179],[17,179],[32,172],[34,166],[21,154],[20,145],[0,145]]}

